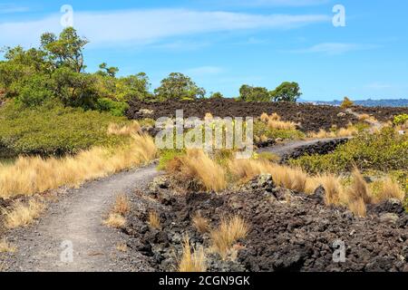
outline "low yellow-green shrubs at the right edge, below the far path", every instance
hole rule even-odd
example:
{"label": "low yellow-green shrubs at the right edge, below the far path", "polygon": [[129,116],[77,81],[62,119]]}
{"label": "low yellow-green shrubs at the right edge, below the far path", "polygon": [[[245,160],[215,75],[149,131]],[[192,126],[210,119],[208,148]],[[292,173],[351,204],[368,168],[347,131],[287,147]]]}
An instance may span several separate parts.
{"label": "low yellow-green shrubs at the right edge, below the far path", "polygon": [[354,140],[326,155],[304,156],[290,160],[309,172],[344,172],[357,166],[359,169],[408,169],[408,136],[397,134],[393,128],[381,132],[362,133]]}

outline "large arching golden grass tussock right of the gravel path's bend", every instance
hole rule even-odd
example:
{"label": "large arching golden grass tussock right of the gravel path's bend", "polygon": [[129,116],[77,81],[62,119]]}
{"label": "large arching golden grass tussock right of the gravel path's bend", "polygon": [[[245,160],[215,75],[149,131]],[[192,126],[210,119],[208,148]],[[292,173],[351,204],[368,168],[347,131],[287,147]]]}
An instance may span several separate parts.
{"label": "large arching golden grass tussock right of the gravel path's bend", "polygon": [[167,171],[185,180],[197,179],[204,189],[219,191],[227,187],[224,169],[203,150],[188,150],[167,165]]}

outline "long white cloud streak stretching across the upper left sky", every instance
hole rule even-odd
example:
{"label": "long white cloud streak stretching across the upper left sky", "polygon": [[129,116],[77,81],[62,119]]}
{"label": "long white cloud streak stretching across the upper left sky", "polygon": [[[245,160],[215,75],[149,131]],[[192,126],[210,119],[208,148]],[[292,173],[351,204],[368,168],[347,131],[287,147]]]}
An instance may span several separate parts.
{"label": "long white cloud streak stretching across the upper left sky", "polygon": [[[44,31],[59,32],[61,15],[15,23],[0,23],[0,45],[38,42]],[[186,9],[115,12],[74,12],[73,23],[91,45],[157,43],[168,37],[248,29],[288,29],[330,21],[323,14],[243,14]]]}

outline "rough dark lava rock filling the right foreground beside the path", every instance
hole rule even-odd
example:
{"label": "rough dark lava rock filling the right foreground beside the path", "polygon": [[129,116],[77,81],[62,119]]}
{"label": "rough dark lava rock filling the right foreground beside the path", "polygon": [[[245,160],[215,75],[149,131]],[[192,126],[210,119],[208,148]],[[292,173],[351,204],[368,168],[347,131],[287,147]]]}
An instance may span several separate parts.
{"label": "rough dark lava rock filling the right foreground beside the path", "polygon": [[[212,228],[231,215],[249,225],[248,237],[235,243],[227,259],[207,250],[208,271],[408,271],[408,215],[396,200],[356,218],[345,208],[326,207],[322,189],[312,196],[278,189],[270,176],[220,195],[180,193],[170,184],[161,177],[138,190],[138,210],[124,230],[131,251],[146,256],[156,270],[177,270],[185,235],[193,247],[210,248],[209,234],[191,222],[199,213]],[[148,225],[152,211],[160,217],[159,229]],[[345,261],[335,262],[342,243]]]}

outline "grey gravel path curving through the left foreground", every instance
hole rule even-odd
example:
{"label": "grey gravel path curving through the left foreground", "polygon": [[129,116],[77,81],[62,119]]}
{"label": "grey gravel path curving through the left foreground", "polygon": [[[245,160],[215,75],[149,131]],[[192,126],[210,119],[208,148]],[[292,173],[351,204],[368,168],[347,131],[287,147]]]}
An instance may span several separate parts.
{"label": "grey gravel path curving through the left foreground", "polygon": [[149,270],[141,256],[128,257],[116,249],[121,235],[103,226],[102,218],[118,193],[131,197],[134,189],[143,188],[158,174],[155,166],[149,166],[86,183],[81,189],[70,189],[61,200],[50,205],[36,226],[18,229],[9,237],[18,250],[8,270]]}

